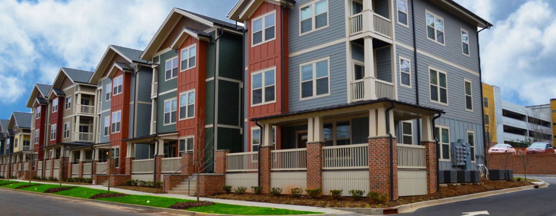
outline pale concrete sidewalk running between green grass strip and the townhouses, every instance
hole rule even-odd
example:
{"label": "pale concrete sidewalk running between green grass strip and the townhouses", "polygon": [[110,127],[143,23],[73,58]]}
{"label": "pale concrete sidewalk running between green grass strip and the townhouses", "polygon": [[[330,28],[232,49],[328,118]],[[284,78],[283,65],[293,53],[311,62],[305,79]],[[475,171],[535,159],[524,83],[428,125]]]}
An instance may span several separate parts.
{"label": "pale concrete sidewalk running between green grass strip and the townhouses", "polygon": [[[29,182],[28,180],[19,180],[19,179],[10,179],[17,182]],[[34,182],[32,183],[39,183],[39,184],[59,184],[55,182]],[[85,187],[85,188],[94,188],[94,189],[101,189],[107,190],[108,188],[103,185],[76,185],[76,184],[63,184],[68,186],[77,186],[77,187]],[[157,197],[171,197],[171,198],[180,198],[180,199],[193,199],[196,200],[197,197],[190,197],[187,195],[180,195],[180,194],[155,194],[155,193],[146,193],[146,192],[138,192],[135,190],[125,190],[120,188],[110,188],[111,191],[126,193],[126,194],[133,194],[133,195],[151,195]],[[229,199],[212,199],[212,198],[200,198],[200,200],[208,200],[215,203],[224,203],[224,204],[232,204],[232,205],[246,205],[246,206],[254,206],[254,207],[269,207],[269,208],[281,208],[281,209],[291,209],[291,210],[300,210],[300,211],[309,211],[309,212],[323,212],[327,214],[351,214],[353,212],[346,212],[342,210],[336,210],[331,208],[322,208],[322,207],[310,207],[305,205],[287,205],[287,204],[275,204],[275,203],[259,203],[259,202],[249,202],[249,201],[241,201],[241,200],[229,200]]]}

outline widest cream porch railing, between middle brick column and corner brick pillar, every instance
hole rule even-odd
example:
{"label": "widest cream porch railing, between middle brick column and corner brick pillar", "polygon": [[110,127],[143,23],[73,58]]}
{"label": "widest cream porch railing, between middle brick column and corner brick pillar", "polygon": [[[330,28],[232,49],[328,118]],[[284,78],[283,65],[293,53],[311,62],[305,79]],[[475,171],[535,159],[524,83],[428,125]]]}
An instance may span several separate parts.
{"label": "widest cream porch railing, between middle brick column and corner brick pillar", "polygon": [[322,169],[369,169],[368,145],[322,147]]}

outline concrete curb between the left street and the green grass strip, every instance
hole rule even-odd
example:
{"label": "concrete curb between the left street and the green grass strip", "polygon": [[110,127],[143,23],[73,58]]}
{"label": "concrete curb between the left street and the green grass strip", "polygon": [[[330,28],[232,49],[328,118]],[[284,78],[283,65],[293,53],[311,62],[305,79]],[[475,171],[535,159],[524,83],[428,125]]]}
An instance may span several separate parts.
{"label": "concrete curb between the left street and the green grass strip", "polygon": [[[114,203],[108,202],[104,200],[96,200],[96,199],[85,199],[85,198],[77,198],[77,197],[67,197],[63,195],[57,194],[48,194],[48,193],[39,193],[39,192],[32,192],[27,190],[18,190],[18,189],[11,189],[11,188],[3,188],[0,187],[0,190],[11,190],[14,192],[21,192],[21,193],[28,193],[33,195],[43,195],[45,197],[58,197],[70,200],[79,200],[83,202],[90,202],[90,203],[97,203],[103,205],[112,205],[117,207],[126,207],[126,208],[134,208],[134,209],[141,209],[141,210],[149,210],[151,212],[165,212],[165,213],[172,213],[178,215],[190,215],[190,216],[245,216],[245,215],[236,215],[236,214],[212,214],[212,213],[202,213],[202,212],[191,212],[188,210],[178,210],[178,209],[169,209],[169,208],[158,208],[158,207],[150,207],[145,205],[134,205],[134,204],[125,204],[125,203]],[[276,216],[276,215],[249,215],[249,216]],[[304,216],[336,216],[336,214],[304,214]]]}

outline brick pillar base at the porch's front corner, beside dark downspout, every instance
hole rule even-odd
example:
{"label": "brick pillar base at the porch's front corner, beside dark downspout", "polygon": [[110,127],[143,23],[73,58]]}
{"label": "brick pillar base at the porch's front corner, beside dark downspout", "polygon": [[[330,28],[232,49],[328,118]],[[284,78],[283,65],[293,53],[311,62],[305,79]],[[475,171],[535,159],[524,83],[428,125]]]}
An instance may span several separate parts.
{"label": "brick pillar base at the porch's front corner, beside dark downspout", "polygon": [[[398,199],[398,153],[396,139],[393,143],[394,200]],[[390,198],[390,138],[369,139],[369,190],[388,194]]]}

